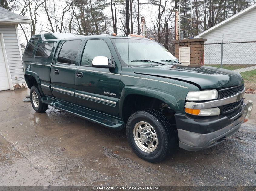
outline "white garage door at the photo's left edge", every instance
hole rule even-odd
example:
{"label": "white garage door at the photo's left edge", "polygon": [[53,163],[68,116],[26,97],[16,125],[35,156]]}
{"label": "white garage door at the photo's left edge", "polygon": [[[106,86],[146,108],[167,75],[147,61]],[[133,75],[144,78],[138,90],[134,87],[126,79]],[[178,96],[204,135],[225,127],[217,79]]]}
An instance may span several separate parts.
{"label": "white garage door at the photo's left edge", "polygon": [[9,83],[7,78],[2,44],[0,40],[0,90],[8,90],[8,89],[10,88],[9,88]]}

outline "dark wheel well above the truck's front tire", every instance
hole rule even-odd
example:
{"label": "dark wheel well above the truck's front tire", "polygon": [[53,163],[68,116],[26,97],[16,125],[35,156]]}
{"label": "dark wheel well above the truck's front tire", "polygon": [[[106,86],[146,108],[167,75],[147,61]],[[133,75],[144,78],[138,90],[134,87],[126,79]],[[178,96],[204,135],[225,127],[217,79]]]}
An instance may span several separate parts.
{"label": "dark wheel well above the truck's front tire", "polygon": [[171,110],[165,102],[157,98],[130,94],[125,97],[123,103],[122,118],[125,123],[135,111],[151,108],[160,111],[168,119],[172,127],[176,129],[175,111]]}

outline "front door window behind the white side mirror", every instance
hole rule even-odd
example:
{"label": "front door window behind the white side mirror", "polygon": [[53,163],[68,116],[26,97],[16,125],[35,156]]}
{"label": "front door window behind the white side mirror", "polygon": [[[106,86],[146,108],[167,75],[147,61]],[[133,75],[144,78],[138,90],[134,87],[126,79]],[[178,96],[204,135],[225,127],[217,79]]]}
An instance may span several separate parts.
{"label": "front door window behind the white side mirror", "polygon": [[87,41],[81,65],[91,66],[92,59],[95,56],[106,56],[109,60],[111,59],[110,50],[104,40],[91,39]]}

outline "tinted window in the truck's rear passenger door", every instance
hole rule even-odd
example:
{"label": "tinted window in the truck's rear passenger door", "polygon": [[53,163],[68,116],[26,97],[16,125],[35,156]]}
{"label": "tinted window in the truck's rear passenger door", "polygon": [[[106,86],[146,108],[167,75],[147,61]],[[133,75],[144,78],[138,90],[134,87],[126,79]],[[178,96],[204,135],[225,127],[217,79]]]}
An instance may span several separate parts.
{"label": "tinted window in the truck's rear passenger door", "polygon": [[81,40],[69,40],[63,43],[57,62],[75,64]]}

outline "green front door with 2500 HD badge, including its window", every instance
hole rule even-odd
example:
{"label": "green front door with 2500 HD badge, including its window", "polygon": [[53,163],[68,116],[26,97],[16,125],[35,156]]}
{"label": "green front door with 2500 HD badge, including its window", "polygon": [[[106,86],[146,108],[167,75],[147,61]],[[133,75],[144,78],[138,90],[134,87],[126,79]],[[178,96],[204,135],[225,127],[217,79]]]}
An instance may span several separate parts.
{"label": "green front door with 2500 HD badge, including its window", "polygon": [[107,43],[101,39],[87,39],[80,65],[76,68],[76,99],[83,107],[118,116],[119,79],[118,68],[92,67],[92,59],[106,56],[114,62]]}

